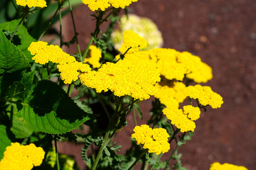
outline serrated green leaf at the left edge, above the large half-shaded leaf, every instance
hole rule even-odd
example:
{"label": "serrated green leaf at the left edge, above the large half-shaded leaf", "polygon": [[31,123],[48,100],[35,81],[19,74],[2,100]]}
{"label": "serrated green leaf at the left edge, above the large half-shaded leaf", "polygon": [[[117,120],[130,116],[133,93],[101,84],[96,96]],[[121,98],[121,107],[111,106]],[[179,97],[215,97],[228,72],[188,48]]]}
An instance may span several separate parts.
{"label": "serrated green leaf at the left edge, above the large half-shaded leaf", "polygon": [[25,55],[0,31],[0,76],[30,67]]}

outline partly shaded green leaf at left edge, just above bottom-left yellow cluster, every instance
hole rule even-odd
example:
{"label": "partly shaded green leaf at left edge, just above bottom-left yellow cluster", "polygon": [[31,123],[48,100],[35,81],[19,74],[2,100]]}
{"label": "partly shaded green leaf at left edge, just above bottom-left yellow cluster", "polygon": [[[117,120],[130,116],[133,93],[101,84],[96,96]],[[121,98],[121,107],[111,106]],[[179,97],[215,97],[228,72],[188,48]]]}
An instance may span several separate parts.
{"label": "partly shaded green leaf at left edge, just above bottom-left yellow cluster", "polygon": [[11,142],[15,142],[15,137],[6,129],[4,125],[0,125],[0,160],[3,158],[3,153],[7,146],[11,144]]}

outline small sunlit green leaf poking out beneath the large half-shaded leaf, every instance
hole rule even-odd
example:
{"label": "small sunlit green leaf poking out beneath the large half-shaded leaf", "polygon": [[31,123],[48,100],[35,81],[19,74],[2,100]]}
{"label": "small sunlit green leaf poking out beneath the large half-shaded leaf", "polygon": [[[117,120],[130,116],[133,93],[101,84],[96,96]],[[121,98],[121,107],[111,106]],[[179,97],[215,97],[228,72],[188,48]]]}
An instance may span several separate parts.
{"label": "small sunlit green leaf poking out beneath the large half-shaded leaf", "polygon": [[13,114],[11,131],[16,138],[21,139],[30,136],[35,129],[22,117],[18,117],[17,114]]}

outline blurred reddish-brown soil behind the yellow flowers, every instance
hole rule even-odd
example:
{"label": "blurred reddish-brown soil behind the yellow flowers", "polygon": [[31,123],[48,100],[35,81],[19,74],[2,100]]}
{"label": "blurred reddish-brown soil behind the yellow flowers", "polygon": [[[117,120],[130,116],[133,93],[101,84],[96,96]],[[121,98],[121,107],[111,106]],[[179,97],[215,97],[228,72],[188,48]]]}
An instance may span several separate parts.
{"label": "blurred reddish-brown soil behind the yellow flowers", "polygon": [[[183,165],[189,170],[209,170],[219,161],[243,165],[256,170],[256,1],[255,0],[138,0],[131,12],[151,18],[164,37],[164,47],[189,51],[213,68],[214,78],[207,83],[224,100],[220,109],[208,109],[196,121],[192,140],[179,149]],[[90,40],[94,22],[85,5],[74,10],[82,50]],[[65,39],[73,36],[70,17],[66,17]],[[102,26],[102,30],[105,27]],[[68,51],[73,53],[76,46]],[[150,101],[142,102],[145,119]],[[128,126],[115,140],[121,153],[130,145],[134,123],[128,115]],[[139,124],[145,123],[145,120]],[[70,149],[79,165],[82,145],[60,145]],[[174,147],[174,143],[171,146]],[[165,153],[164,158],[168,158]]]}

